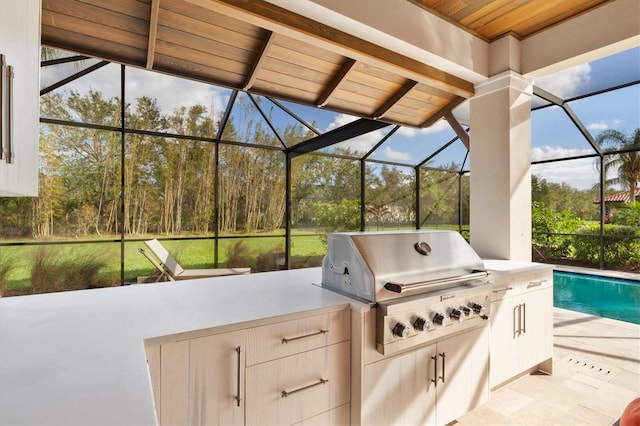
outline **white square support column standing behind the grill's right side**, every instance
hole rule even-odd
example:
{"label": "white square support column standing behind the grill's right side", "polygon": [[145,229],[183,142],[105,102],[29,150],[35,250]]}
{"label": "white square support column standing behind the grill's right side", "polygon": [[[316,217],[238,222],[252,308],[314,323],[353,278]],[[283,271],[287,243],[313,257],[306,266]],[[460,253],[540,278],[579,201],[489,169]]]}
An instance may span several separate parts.
{"label": "white square support column standing behind the grill's right side", "polygon": [[471,112],[471,246],[531,261],[531,92],[506,71],[476,85]]}

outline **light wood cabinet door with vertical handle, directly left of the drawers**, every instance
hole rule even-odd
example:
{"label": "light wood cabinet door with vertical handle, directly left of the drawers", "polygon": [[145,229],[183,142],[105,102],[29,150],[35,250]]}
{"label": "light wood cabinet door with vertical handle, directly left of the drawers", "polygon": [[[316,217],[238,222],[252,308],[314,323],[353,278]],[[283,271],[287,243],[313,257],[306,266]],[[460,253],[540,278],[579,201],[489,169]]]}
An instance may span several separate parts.
{"label": "light wood cabinet door with vertical handle, directly left of the drawers", "polygon": [[244,331],[191,340],[189,424],[244,424]]}

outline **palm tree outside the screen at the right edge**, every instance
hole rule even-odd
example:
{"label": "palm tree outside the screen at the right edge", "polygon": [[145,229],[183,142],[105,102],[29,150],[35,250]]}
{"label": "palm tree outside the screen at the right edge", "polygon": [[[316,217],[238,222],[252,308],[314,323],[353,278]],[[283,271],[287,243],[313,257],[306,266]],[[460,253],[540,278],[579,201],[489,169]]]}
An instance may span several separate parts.
{"label": "palm tree outside the screen at the right edge", "polygon": [[[607,184],[623,185],[629,189],[629,201],[636,200],[636,188],[640,180],[640,128],[634,130],[630,135],[625,135],[618,130],[605,130],[596,138],[600,146],[610,146],[606,150],[625,151],[613,154],[605,154],[604,171],[605,174],[617,170],[617,177],[607,179]],[[635,151],[631,151],[634,150]]]}

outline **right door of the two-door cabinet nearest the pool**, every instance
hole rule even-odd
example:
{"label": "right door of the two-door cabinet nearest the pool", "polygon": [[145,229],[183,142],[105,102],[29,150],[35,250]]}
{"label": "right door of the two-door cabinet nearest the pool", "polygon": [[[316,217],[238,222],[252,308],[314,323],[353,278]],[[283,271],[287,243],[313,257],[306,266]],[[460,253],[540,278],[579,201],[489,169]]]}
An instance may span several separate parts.
{"label": "right door of the two-door cabinet nearest the pool", "polygon": [[553,357],[553,289],[544,288],[522,296],[523,333],[519,372]]}

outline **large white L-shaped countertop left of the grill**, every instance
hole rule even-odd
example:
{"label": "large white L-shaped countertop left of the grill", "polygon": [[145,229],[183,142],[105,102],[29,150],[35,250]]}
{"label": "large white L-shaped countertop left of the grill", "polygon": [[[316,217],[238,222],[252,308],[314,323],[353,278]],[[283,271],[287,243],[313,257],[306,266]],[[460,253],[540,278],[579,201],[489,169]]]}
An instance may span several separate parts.
{"label": "large white L-shaped countertop left of the grill", "polygon": [[155,424],[144,340],[353,302],[320,268],[0,298],[0,424]]}

